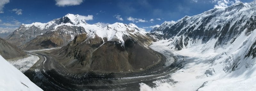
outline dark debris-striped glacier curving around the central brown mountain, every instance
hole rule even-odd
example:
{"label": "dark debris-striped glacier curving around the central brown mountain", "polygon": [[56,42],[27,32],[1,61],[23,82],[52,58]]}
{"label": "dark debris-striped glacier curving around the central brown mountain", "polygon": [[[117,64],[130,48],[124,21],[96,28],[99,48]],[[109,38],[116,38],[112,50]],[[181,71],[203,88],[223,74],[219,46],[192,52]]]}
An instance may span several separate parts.
{"label": "dark debris-striped glacier curving around the central brown mountain", "polygon": [[[44,90],[139,91],[141,83],[155,87],[157,83],[154,81],[169,79],[171,73],[182,67],[180,64],[183,60],[177,61],[176,59],[180,58],[173,56],[171,51],[159,52],[163,52],[165,57],[162,57],[159,64],[145,71],[137,73],[75,73],[69,72],[52,56],[34,50],[32,53],[37,54],[40,60],[24,74]],[[175,83],[172,79],[169,79],[168,82]]]}

